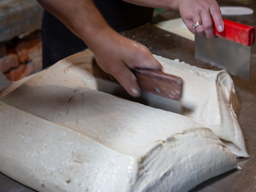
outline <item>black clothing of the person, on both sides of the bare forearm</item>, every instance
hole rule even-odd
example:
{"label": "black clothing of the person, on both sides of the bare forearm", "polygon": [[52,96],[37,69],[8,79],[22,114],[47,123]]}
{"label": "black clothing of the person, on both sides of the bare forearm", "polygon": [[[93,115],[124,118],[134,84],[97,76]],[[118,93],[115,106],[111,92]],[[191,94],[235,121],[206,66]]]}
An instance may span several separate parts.
{"label": "black clothing of the person, on both sides of the bare forearm", "polygon": [[[150,22],[154,10],[122,0],[94,0],[94,3],[109,25],[118,32]],[[44,11],[42,22],[42,42],[43,68],[87,48],[80,38],[47,11]]]}

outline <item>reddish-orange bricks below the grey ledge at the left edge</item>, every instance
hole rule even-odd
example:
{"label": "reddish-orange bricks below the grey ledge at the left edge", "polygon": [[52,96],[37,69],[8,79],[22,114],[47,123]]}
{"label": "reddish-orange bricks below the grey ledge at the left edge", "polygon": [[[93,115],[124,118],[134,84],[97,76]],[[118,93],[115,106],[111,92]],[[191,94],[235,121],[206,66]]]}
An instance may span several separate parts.
{"label": "reddish-orange bricks below the grey ledge at the left edge", "polygon": [[0,70],[10,81],[42,70],[40,31],[0,45]]}

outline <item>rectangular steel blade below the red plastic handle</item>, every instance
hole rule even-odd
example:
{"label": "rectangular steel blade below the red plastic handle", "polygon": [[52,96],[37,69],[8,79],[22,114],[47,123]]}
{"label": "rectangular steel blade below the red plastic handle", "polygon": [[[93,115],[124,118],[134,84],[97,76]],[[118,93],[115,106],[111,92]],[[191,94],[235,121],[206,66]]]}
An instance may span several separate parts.
{"label": "rectangular steel blade below the red plastic handle", "polygon": [[251,46],[222,37],[208,39],[195,35],[195,58],[249,80]]}

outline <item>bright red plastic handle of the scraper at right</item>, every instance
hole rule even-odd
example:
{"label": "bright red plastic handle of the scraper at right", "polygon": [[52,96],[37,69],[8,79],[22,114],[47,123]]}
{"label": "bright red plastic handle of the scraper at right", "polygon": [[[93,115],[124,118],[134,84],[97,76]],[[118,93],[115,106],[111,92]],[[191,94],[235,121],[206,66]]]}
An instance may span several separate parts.
{"label": "bright red plastic handle of the scraper at right", "polygon": [[214,25],[215,35],[224,37],[231,41],[241,43],[247,46],[252,46],[255,42],[255,28],[252,26],[236,23],[234,21],[223,19],[225,29],[223,32],[218,32]]}

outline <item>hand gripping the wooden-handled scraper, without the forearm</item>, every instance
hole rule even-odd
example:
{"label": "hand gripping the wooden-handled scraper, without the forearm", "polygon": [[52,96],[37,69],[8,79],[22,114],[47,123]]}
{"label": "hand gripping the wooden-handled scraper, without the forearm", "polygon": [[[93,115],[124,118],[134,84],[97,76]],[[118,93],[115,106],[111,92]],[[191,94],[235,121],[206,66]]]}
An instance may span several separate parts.
{"label": "hand gripping the wooden-handled scraper, without the forearm", "polygon": [[133,97],[140,95],[140,88],[130,69],[162,69],[147,47],[112,29],[109,29],[107,33],[101,33],[89,48],[99,67],[116,78]]}

